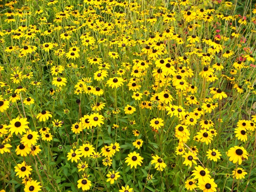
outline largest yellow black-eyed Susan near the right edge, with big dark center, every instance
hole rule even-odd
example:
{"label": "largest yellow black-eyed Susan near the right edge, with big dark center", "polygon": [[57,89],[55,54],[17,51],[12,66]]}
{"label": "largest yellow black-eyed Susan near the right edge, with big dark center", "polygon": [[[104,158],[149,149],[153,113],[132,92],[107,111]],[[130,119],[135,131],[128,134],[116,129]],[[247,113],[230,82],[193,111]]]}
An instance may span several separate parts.
{"label": "largest yellow black-eyed Susan near the right edge, with big dark center", "polygon": [[234,146],[228,150],[227,153],[229,160],[232,161],[233,163],[238,162],[238,164],[242,164],[242,161],[245,159],[248,159],[248,153],[244,149],[244,147],[238,147]]}

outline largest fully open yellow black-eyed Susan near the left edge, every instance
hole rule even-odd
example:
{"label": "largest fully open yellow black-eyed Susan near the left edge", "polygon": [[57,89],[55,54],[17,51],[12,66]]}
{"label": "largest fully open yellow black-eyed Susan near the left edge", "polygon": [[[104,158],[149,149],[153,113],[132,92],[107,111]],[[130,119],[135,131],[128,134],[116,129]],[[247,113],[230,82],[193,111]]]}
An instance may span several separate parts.
{"label": "largest fully open yellow black-eyed Susan near the left edge", "polygon": [[17,117],[16,119],[12,119],[10,121],[10,125],[8,126],[10,134],[15,133],[16,135],[22,134],[22,132],[26,132],[26,129],[28,129],[27,124],[27,118],[19,118]]}

